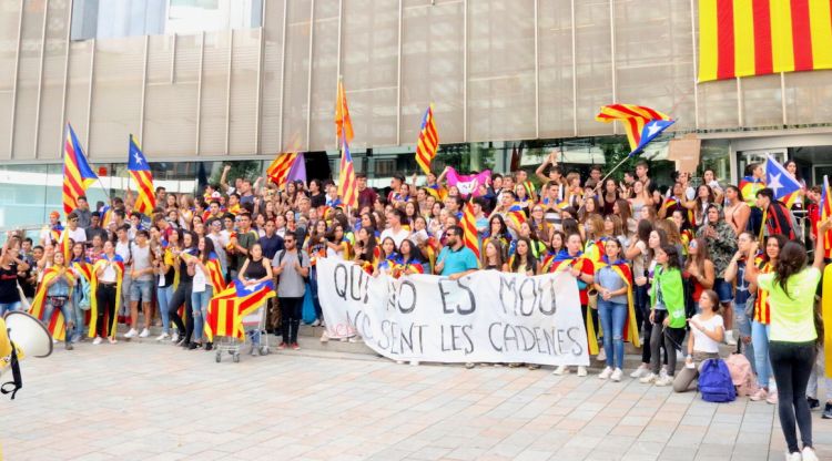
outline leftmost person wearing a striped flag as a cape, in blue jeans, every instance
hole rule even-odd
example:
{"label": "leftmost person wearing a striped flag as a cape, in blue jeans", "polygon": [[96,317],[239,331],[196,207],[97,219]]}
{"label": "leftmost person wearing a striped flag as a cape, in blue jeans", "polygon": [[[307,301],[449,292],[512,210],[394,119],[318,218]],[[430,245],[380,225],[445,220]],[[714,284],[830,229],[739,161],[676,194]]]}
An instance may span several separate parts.
{"label": "leftmost person wearing a striped flag as a cape, in blue jeans", "polygon": [[74,325],[70,303],[74,285],[75,277],[72,269],[67,267],[63,253],[53,252],[52,266],[43,272],[43,278],[29,309],[29,314],[43,321],[53,341],[64,341],[67,350],[72,350],[72,338],[68,332]]}

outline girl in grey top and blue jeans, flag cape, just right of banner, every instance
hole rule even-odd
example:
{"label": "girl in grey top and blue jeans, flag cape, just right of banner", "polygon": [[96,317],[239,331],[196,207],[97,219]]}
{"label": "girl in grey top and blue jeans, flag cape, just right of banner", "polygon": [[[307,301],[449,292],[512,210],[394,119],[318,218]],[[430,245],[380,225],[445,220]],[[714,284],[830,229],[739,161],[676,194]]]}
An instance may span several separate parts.
{"label": "girl in grey top and blue jeans, flag cape, just right of banner", "polygon": [[605,242],[606,254],[595,272],[595,288],[598,291],[598,316],[603,328],[603,350],[607,368],[599,379],[620,381],[623,375],[625,328],[636,347],[639,346],[636,310],[632,303],[632,274],[626,259],[621,259],[621,243],[616,238]]}

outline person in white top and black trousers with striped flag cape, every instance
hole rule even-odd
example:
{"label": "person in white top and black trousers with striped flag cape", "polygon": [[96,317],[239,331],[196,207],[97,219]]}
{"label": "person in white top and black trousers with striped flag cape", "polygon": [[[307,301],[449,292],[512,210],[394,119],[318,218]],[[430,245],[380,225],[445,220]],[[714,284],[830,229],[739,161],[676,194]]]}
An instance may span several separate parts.
{"label": "person in white top and black trousers with striped flag cape", "polygon": [[110,344],[115,340],[115,313],[121,305],[121,281],[124,277],[124,260],[115,254],[115,245],[104,242],[104,254],[92,266],[90,291],[90,338],[93,345],[100,345],[102,338]]}

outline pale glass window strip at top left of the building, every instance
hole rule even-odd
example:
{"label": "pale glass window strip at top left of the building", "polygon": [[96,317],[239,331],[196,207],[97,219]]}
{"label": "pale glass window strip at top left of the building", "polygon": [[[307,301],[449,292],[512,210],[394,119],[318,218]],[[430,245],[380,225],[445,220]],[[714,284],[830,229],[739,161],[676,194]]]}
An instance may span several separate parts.
{"label": "pale glass window strip at top left of the building", "polygon": [[263,0],[75,0],[72,40],[258,28]]}

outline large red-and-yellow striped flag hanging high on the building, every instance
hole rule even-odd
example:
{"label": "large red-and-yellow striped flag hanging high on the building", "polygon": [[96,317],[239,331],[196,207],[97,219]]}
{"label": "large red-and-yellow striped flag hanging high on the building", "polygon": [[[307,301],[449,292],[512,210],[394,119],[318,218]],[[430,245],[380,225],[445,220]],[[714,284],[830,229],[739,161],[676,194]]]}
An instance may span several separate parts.
{"label": "large red-and-yellow striped flag hanging high on the building", "polygon": [[699,0],[699,81],[832,69],[829,0]]}

